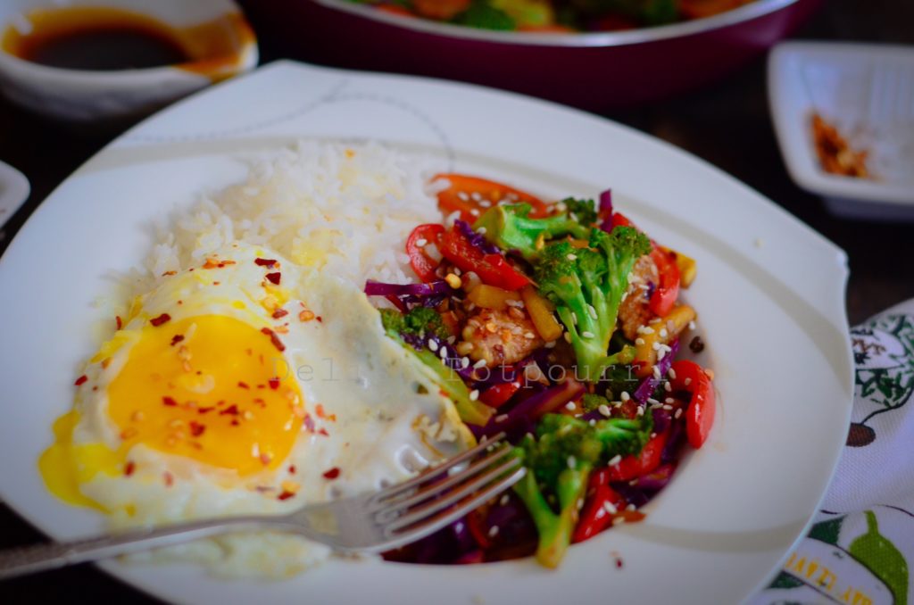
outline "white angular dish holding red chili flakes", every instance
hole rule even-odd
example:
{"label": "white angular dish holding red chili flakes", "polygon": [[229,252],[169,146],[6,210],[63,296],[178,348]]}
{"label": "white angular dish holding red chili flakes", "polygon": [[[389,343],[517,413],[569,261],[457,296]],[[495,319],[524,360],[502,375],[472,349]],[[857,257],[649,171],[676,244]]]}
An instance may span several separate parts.
{"label": "white angular dish holding red chili flakes", "polygon": [[[914,48],[785,42],[768,63],[769,101],[781,154],[797,185],[824,196],[834,214],[914,219]],[[815,153],[818,112],[873,178],[826,173]]]}

